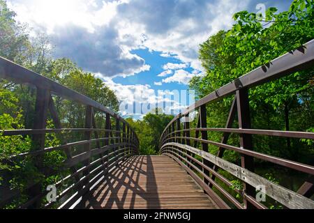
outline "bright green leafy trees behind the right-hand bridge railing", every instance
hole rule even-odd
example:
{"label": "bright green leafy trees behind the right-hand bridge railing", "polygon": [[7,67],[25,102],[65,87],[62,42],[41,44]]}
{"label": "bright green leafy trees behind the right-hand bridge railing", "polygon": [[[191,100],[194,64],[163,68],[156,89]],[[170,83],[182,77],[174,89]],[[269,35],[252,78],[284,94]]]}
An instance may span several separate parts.
{"label": "bright green leafy trees behind the right-hand bridge railing", "polygon": [[[236,13],[232,29],[219,31],[202,43],[200,61],[207,75],[193,78],[190,89],[195,89],[202,98],[255,68],[264,66],[267,69],[272,59],[292,49],[301,50],[302,44],[313,39],[313,1],[295,0],[288,11],[276,12],[276,8],[268,8],[265,21],[248,11]],[[313,130],[313,71],[312,67],[250,89],[253,128]],[[225,127],[231,102],[232,98],[228,97],[207,106],[210,127]],[[234,127],[237,128],[237,122]],[[221,135],[210,134],[209,137],[220,141]],[[228,143],[237,146],[239,140],[234,139],[232,137]],[[256,151],[309,164],[313,162],[312,142],[308,140],[255,136],[253,143]],[[214,146],[209,149],[216,153]],[[233,154],[226,158],[234,162],[239,160]]]}

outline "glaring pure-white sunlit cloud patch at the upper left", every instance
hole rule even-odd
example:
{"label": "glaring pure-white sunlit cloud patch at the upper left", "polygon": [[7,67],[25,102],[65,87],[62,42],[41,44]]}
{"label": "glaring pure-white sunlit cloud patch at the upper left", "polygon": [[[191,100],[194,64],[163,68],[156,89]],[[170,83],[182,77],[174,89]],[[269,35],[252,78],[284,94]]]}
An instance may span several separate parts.
{"label": "glaring pure-white sunlit cloud patch at the upper left", "polygon": [[83,0],[9,0],[20,22],[43,26],[47,33],[54,33],[57,26],[74,24],[94,33],[97,26],[108,25],[117,15],[117,6],[126,1]]}

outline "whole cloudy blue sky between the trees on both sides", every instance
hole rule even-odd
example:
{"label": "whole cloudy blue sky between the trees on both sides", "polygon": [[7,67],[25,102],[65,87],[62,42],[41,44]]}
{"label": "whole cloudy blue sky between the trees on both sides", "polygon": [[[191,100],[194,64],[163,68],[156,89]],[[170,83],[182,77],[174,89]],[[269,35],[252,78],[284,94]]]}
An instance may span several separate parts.
{"label": "whole cloudy blue sky between the trees on both sides", "polygon": [[[165,101],[174,90],[204,75],[200,43],[230,29],[240,10],[257,4],[287,10],[290,0],[7,0],[17,21],[31,33],[45,33],[52,56],[68,57],[116,92],[126,105]],[[34,35],[36,36],[36,35]],[[163,90],[159,95],[157,91]],[[170,98],[172,104],[186,105]],[[141,118],[147,111],[140,112]],[[130,112],[121,111],[128,116]]]}

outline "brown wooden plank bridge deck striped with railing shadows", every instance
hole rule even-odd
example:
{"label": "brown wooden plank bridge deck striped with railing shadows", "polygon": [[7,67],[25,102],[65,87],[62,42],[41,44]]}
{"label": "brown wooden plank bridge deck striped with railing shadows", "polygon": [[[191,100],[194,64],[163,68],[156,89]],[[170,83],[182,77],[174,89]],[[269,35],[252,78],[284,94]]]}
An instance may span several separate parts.
{"label": "brown wooden plank bridge deck striped with railing shadows", "polygon": [[84,199],[95,209],[215,209],[184,169],[170,157],[134,156],[112,170]]}

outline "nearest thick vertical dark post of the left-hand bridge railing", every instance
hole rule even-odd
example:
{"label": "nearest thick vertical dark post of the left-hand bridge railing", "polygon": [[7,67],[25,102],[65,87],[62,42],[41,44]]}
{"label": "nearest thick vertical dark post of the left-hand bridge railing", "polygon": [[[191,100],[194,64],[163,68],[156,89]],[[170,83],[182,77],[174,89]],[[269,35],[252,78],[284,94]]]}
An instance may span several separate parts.
{"label": "nearest thick vertical dark post of the left-hand bridge railing", "polygon": [[[35,104],[35,117],[33,120],[33,129],[45,129],[47,125],[47,112],[50,102],[50,91],[46,89],[37,88],[36,91],[36,104]],[[45,148],[45,133],[34,134],[32,136],[32,150],[43,150]],[[39,171],[43,171],[43,155],[34,157],[34,165]],[[41,190],[43,185],[36,183],[28,190],[31,198],[36,198],[36,201],[29,206],[29,208],[40,208],[41,206]]]}

